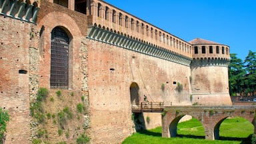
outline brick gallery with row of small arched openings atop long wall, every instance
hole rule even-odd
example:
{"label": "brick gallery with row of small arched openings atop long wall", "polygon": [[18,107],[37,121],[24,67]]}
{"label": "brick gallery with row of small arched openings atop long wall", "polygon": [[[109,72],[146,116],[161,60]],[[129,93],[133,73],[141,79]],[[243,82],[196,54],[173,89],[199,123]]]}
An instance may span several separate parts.
{"label": "brick gallery with row of small arched openings atop long wall", "polygon": [[87,15],[90,15],[88,25],[97,23],[101,27],[108,27],[113,29],[113,31],[119,31],[119,33],[129,35],[133,39],[145,41],[149,45],[164,47],[169,51],[174,51],[179,53],[179,55],[191,58],[191,44],[187,41],[163,31],[163,29],[155,27],[105,1],[92,0],[87,9],[89,9]]}

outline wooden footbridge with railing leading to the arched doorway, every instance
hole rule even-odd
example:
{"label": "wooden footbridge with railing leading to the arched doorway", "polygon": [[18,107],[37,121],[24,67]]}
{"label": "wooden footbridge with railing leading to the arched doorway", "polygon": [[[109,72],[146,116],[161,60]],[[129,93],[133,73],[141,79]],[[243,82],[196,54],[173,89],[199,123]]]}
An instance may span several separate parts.
{"label": "wooden footbridge with railing leading to the arched doorway", "polygon": [[141,102],[139,105],[132,105],[133,113],[162,112],[164,107],[171,106],[171,102]]}

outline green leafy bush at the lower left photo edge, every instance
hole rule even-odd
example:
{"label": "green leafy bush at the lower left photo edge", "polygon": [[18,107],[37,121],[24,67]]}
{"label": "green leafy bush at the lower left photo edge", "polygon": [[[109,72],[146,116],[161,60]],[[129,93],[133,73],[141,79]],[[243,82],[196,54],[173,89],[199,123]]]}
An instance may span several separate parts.
{"label": "green leafy bush at the lower left photo edge", "polygon": [[6,132],[7,122],[10,121],[10,115],[0,107],[0,142],[4,138]]}

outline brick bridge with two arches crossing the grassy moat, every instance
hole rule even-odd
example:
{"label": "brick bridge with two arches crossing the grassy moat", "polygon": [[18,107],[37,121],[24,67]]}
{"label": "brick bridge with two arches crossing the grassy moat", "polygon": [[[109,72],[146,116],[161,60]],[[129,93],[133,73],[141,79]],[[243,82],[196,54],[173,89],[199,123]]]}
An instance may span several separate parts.
{"label": "brick bridge with two arches crossing the grassy moat", "polygon": [[219,126],[227,117],[243,117],[254,125],[256,106],[172,106],[162,113],[162,137],[175,137],[177,124],[185,115],[198,119],[205,129],[205,139],[219,139]]}

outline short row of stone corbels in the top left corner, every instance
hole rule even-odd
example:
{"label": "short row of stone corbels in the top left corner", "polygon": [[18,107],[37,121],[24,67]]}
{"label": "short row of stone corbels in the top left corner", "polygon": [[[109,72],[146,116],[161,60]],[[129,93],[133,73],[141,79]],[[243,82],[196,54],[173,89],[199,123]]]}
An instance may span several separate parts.
{"label": "short row of stone corbels in the top left corner", "polygon": [[0,15],[29,23],[35,23],[39,3],[37,1],[0,0]]}

